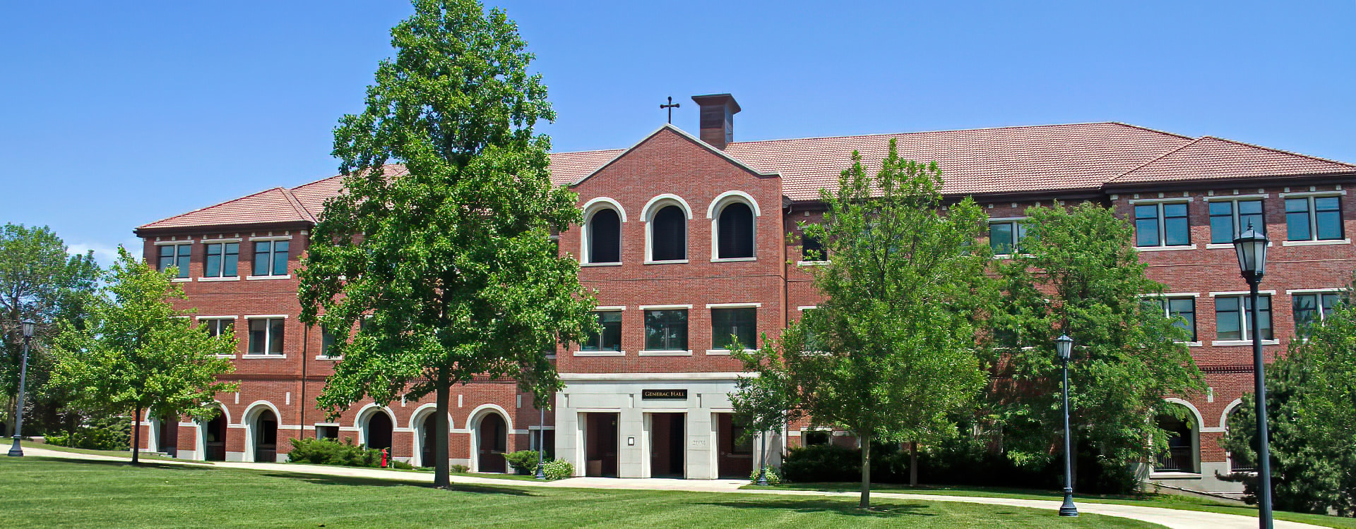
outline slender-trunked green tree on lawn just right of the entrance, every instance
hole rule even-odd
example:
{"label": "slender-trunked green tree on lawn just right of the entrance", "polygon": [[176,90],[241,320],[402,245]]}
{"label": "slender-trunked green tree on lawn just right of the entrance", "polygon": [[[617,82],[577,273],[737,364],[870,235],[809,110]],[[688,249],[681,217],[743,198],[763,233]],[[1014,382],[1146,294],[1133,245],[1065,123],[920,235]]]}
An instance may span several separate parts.
{"label": "slender-trunked green tree on lawn just right of the entrance", "polygon": [[789,326],[780,354],[749,365],[785,379],[799,411],[857,434],[864,509],[872,442],[953,433],[951,414],[986,380],[972,325],[986,216],[970,199],[944,214],[940,189],[937,165],[902,160],[895,141],[873,176],[853,153],[838,188],[820,191],[823,223],[803,226],[829,253],[811,269],[824,302]]}

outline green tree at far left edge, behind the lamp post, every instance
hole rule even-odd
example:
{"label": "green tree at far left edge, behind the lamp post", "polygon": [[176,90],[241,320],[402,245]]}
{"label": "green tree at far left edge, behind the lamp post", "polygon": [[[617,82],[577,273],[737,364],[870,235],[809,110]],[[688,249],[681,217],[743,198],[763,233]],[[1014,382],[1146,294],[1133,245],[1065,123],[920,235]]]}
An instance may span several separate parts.
{"label": "green tree at far left edge, behind the lamp post", "polygon": [[19,391],[23,359],[20,322],[33,319],[37,330],[28,350],[28,380],[24,413],[26,433],[41,433],[54,423],[69,395],[47,384],[56,364],[47,344],[60,322],[83,325],[88,303],[98,288],[99,265],[94,254],[69,256],[66,245],[46,226],[5,223],[0,227],[0,395],[14,425],[14,400]]}

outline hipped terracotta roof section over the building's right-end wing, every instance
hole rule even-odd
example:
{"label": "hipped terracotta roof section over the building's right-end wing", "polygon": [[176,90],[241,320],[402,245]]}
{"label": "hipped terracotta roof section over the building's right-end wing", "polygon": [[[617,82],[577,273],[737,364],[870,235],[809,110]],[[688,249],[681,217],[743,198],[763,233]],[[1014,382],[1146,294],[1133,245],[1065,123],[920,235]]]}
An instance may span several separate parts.
{"label": "hipped terracotta roof section over the building's right-end wing", "polygon": [[1356,173],[1356,165],[1203,137],[1108,184]]}

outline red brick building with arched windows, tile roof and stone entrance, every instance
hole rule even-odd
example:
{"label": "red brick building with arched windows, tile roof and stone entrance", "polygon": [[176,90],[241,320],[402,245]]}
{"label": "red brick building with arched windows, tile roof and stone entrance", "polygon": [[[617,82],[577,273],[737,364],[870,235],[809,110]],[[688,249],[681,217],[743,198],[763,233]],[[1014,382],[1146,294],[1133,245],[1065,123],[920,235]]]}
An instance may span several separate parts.
{"label": "red brick building with arched windows, tile roof and stone entrance", "polygon": [[[816,222],[818,191],[837,183],[858,150],[879,161],[890,139],[906,158],[936,160],[944,193],[974,196],[991,218],[990,242],[1020,253],[1029,206],[1092,200],[1136,226],[1149,273],[1168,285],[1165,311],[1189,321],[1191,350],[1208,391],[1173,399],[1192,419],[1154,480],[1234,491],[1218,441],[1252,386],[1246,284],[1227,241],[1249,222],[1272,241],[1260,334],[1275,357],[1296,321],[1321,319],[1356,267],[1347,189],[1356,165],[1227,139],[1189,138],[1123,123],[1081,123],[833,138],[734,141],[739,106],[728,95],[693,97],[700,137],[662,126],[625,150],[556,153],[552,179],[579,193],[584,223],[560,235],[597,290],[603,333],[557,352],[567,387],[542,414],[513,383],[457,387],[452,459],[503,471],[506,451],[542,440],[580,475],[747,476],[758,446],[739,445],[728,394],[740,365],[727,336],[776,337],[812,308],[797,222]],[[399,168],[392,170],[399,172]],[[297,321],[296,267],[308,231],[340,177],[274,188],[136,230],[145,258],[178,267],[199,325],[235,329],[240,392],[220,395],[222,417],[199,425],[146,421],[148,449],[190,459],[274,460],[289,440],[339,437],[389,446],[431,464],[431,399],[354,406],[328,422],[315,396],[339,359],[331,337]],[[1356,229],[1356,226],[1353,226]],[[769,436],[770,456],[804,442],[852,442],[843,432],[793,426]]]}

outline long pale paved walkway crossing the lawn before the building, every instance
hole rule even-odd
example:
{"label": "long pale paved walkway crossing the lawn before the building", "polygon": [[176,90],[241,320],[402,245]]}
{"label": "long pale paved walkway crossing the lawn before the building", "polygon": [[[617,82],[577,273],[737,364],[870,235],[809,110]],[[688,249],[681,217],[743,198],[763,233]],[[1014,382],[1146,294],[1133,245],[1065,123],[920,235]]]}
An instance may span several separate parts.
{"label": "long pale paved walkway crossing the lawn before the building", "polygon": [[[126,457],[94,456],[85,453],[58,452],[33,445],[23,446],[28,456],[84,459],[103,461],[126,461]],[[174,460],[148,460],[148,463],[193,464]],[[372,478],[372,479],[399,479],[414,482],[433,482],[433,474],[427,472],[400,472],[381,468],[350,468],[312,464],[282,464],[282,463],[229,463],[214,461],[214,467],[267,469],[292,474],[311,474],[325,476]],[[612,488],[612,490],[674,490],[690,492],[738,492],[738,494],[772,494],[795,497],[850,497],[857,492],[824,492],[824,491],[797,491],[797,490],[740,490],[747,484],[742,479],[712,479],[712,480],[685,480],[685,479],[614,479],[614,478],[571,478],[559,482],[536,480],[509,480],[496,478],[479,478],[473,475],[452,475],[453,483],[465,484],[496,484],[521,487],[560,487],[560,488]],[[1059,510],[1060,501],[1054,499],[1016,499],[1016,498],[979,498],[979,497],[951,497],[938,494],[910,494],[910,492],[871,492],[875,499],[915,499],[932,502],[964,502],[1002,505],[1010,507],[1029,507],[1055,511]],[[1201,513],[1193,510],[1144,507],[1136,505],[1116,503],[1081,503],[1079,513],[1105,514],[1121,518],[1140,520],[1159,524],[1170,529],[1252,529],[1257,526],[1257,518],[1237,514]],[[1318,529],[1318,525],[1276,521],[1277,529]]]}

